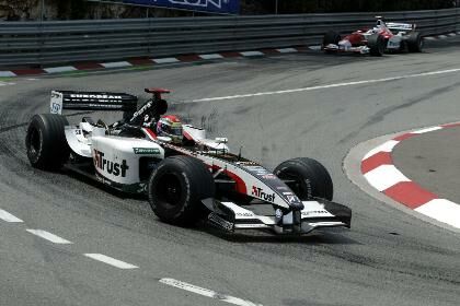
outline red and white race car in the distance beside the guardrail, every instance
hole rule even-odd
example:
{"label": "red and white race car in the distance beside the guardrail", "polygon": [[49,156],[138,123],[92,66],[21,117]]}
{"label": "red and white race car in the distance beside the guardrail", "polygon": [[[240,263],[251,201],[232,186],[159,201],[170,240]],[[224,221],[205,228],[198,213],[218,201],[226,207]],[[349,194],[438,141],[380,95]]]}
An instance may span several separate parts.
{"label": "red and white race car in the distance beside the guardrail", "polygon": [[375,27],[359,30],[344,37],[334,31],[327,32],[323,37],[322,49],[326,52],[356,52],[372,56],[382,56],[388,51],[421,52],[423,37],[415,28],[415,24],[386,24],[379,19]]}

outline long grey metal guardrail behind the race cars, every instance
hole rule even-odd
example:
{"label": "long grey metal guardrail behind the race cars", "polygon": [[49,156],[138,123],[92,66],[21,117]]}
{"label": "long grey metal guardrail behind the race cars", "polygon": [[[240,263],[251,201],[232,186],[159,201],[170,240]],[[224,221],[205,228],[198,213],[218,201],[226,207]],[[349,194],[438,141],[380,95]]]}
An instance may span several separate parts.
{"label": "long grey metal guardrail behind the race cars", "polygon": [[[460,9],[380,14],[416,23],[423,35],[460,31]],[[0,67],[318,45],[330,30],[349,33],[375,21],[375,13],[341,13],[0,22]]]}

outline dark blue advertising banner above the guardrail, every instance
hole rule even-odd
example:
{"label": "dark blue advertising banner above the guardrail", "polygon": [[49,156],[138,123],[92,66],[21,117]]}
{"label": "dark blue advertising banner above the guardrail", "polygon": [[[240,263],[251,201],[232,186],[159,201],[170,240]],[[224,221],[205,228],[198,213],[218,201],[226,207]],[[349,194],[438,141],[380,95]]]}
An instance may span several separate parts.
{"label": "dark blue advertising banner above the guardrail", "polygon": [[240,0],[123,0],[125,3],[221,14],[240,13]]}

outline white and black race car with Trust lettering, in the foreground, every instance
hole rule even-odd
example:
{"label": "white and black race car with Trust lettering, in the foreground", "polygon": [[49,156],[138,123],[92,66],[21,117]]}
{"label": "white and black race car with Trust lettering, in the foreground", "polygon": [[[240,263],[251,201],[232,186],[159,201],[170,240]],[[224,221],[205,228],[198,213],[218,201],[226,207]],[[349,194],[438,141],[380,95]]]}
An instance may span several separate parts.
{"label": "white and black race car with Trust lettering, in the foreground", "polygon": [[[146,193],[160,220],[182,226],[205,220],[229,232],[349,228],[352,211],[332,202],[331,176],[319,162],[292,158],[271,173],[241,152],[230,153],[226,138],[207,139],[205,130],[163,116],[168,104],[161,95],[169,91],[146,92],[153,97],[137,109],[137,97],[125,93],[54,91],[51,114],[33,116],[27,128],[32,166],[64,166],[118,190]],[[112,125],[83,117],[71,126],[62,109],[124,116]],[[169,136],[159,132],[168,127]]]}

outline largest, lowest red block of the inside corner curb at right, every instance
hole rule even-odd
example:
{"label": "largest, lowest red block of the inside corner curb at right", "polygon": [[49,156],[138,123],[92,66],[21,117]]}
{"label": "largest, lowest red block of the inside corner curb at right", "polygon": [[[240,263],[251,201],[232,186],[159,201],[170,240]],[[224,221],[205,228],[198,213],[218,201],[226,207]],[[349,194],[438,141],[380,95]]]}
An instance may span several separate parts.
{"label": "largest, lowest red block of the inside corner curb at right", "polygon": [[423,189],[414,181],[398,183],[384,190],[383,193],[410,209],[416,209],[438,198],[438,196]]}

